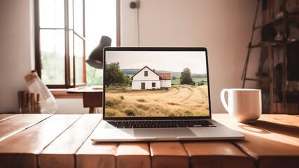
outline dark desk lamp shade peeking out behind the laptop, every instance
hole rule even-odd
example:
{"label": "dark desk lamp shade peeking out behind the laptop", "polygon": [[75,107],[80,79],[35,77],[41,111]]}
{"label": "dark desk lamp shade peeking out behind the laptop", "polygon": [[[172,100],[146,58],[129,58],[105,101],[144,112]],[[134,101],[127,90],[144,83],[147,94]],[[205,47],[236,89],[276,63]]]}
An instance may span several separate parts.
{"label": "dark desk lamp shade peeking out behind the laptop", "polygon": [[95,48],[88,59],[86,59],[86,63],[96,69],[103,69],[103,49],[106,46],[111,46],[111,38],[109,36],[102,36],[97,48]]}

